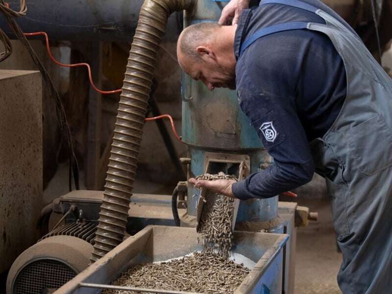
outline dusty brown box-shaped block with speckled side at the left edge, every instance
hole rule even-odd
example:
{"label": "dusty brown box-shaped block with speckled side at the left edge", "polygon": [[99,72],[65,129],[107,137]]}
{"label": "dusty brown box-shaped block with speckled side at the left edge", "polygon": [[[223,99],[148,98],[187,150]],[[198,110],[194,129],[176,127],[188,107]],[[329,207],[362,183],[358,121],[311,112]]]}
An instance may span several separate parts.
{"label": "dusty brown box-shaped block with speckled side at the left edge", "polygon": [[42,79],[0,70],[0,272],[39,238]]}

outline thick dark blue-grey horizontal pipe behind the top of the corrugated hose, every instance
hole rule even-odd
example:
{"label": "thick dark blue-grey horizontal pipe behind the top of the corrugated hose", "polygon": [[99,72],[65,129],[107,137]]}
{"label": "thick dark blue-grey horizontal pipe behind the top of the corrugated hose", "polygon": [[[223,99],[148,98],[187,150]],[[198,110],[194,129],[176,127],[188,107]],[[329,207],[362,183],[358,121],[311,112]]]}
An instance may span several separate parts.
{"label": "thick dark blue-grey horizontal pipe behind the top of the corrugated hose", "polygon": [[[6,2],[20,6],[20,0]],[[27,15],[17,22],[24,32],[47,32],[50,40],[129,42],[142,4],[143,0],[28,0]],[[165,39],[176,40],[181,28],[175,15],[168,27]],[[0,28],[15,39],[4,18]]]}

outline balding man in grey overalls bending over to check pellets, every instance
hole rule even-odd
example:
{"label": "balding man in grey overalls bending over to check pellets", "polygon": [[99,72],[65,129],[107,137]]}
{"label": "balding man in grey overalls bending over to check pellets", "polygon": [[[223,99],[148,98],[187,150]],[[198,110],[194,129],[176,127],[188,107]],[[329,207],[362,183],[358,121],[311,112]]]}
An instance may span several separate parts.
{"label": "balding man in grey overalls bending over to check pellets", "polygon": [[341,290],[391,293],[392,81],[349,25],[318,0],[263,0],[238,25],[186,28],[177,55],[210,90],[237,89],[274,158],[239,183],[190,182],[245,200],[318,172],[343,253]]}

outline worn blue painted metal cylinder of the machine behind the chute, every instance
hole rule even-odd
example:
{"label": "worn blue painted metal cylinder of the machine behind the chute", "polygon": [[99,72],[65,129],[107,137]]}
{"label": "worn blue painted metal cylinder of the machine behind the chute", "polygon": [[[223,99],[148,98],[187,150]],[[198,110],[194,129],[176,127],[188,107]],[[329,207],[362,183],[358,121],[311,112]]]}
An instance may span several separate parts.
{"label": "worn blue painted metal cylinder of the machine behind the chute", "polygon": [[[184,27],[200,22],[218,22],[227,2],[197,0],[184,13]],[[200,81],[182,77],[182,140],[189,144],[190,175],[205,172],[206,152],[244,154],[250,157],[250,172],[266,162],[266,151],[248,118],[239,107],[236,91],[209,91]],[[198,191],[188,188],[188,214],[196,215]],[[237,222],[269,221],[277,217],[278,197],[241,201]]]}

